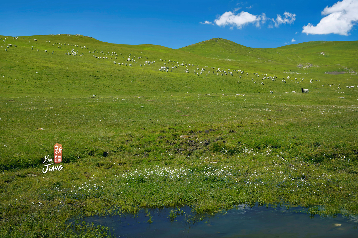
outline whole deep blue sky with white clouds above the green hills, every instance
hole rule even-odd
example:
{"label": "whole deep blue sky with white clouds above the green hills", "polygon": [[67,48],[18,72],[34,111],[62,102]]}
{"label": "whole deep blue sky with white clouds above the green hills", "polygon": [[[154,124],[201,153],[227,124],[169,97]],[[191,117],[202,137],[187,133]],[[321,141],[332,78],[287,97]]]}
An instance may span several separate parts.
{"label": "whole deep blue sky with white clouds above the green hills", "polygon": [[314,40],[357,40],[358,0],[15,0],[3,2],[0,20],[0,35],[9,36],[81,34],[111,43],[173,49],[221,37],[270,48]]}

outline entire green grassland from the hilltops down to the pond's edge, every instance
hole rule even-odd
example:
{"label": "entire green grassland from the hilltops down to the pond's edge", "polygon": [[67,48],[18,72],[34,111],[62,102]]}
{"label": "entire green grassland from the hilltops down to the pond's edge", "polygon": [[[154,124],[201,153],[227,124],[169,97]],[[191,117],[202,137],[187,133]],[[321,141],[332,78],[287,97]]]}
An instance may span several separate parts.
{"label": "entire green grassland from the hilltops down to the pond's edge", "polygon": [[[346,87],[358,85],[357,41],[174,50],[0,37],[4,237],[107,237],[67,220],[146,207],[358,214],[358,95]],[[43,173],[55,143],[63,168]]]}

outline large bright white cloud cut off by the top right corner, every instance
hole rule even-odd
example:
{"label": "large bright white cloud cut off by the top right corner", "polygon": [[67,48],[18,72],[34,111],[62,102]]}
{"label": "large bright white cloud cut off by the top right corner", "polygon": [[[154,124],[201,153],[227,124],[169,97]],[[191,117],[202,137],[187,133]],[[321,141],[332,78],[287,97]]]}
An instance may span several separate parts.
{"label": "large bright white cloud cut off by the top right corner", "polygon": [[303,26],[302,32],[308,34],[338,34],[347,36],[353,25],[358,21],[358,0],[342,0],[333,6],[326,6],[321,12],[323,17],[313,26],[311,23]]}

